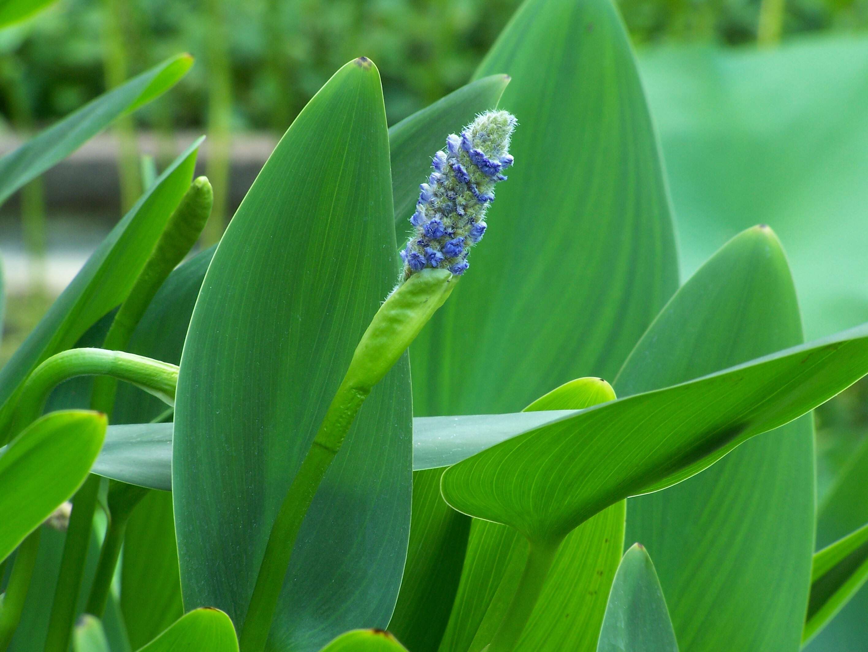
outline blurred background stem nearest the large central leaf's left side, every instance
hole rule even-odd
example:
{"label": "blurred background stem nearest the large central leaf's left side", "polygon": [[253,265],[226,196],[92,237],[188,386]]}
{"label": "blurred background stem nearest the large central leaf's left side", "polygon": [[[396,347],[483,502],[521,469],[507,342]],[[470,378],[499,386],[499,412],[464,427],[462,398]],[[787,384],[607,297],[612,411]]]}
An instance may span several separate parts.
{"label": "blurred background stem nearest the large central leaf's left side", "polygon": [[211,218],[202,232],[206,247],[220,240],[227,222],[229,155],[232,122],[232,69],[224,0],[207,0],[208,123],[205,175],[214,188]]}

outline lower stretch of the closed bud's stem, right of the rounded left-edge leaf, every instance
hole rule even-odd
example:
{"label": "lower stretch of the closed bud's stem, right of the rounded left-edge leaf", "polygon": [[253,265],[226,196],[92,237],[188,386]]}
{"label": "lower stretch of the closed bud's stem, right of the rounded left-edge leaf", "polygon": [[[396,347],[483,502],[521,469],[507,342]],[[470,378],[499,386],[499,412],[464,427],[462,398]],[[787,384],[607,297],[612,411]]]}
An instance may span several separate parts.
{"label": "lower stretch of the closed bud's stem, right of the rounded left-edge leaf", "polygon": [[90,475],[73,500],[54,603],[51,605],[48,634],[45,637],[45,652],[69,650],[69,638],[76,620],[76,603],[84,576],[84,564],[77,562],[88,554],[99,491],[100,477]]}

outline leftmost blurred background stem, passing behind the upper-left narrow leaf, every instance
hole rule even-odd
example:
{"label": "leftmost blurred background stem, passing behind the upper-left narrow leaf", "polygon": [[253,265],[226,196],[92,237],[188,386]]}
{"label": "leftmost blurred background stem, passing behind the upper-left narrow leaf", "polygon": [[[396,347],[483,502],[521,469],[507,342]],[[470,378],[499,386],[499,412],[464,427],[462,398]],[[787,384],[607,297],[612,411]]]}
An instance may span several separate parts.
{"label": "leftmost blurred background stem, passing behind the upper-left narrow leaf", "polygon": [[[17,56],[8,53],[0,57],[0,87],[9,109],[10,122],[23,139],[34,130],[33,111],[27,96],[23,66]],[[30,265],[30,292],[46,292],[45,192],[43,178],[37,177],[21,189],[21,227],[24,250]]]}

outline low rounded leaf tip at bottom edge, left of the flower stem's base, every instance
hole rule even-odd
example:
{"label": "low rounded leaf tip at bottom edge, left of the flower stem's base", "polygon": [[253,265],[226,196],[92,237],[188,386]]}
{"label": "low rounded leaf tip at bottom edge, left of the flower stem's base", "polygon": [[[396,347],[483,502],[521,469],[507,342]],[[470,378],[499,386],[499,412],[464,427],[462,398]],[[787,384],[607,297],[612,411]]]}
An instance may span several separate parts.
{"label": "low rounded leaf tip at bottom edge, left of the flower stem's base", "polygon": [[140,648],[139,652],[179,652],[194,649],[238,652],[238,640],[229,616],[219,609],[194,609]]}

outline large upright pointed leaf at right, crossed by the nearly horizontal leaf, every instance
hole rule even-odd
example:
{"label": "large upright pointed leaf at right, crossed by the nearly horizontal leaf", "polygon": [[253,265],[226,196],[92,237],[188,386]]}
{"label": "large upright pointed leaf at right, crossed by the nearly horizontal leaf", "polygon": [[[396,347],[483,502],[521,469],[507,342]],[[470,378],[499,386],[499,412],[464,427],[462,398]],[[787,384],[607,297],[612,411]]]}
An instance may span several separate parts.
{"label": "large upright pointed leaf at right, crossed by the nearly horizontal leaf", "polygon": [[[754,227],[681,287],[615,388],[648,392],[802,341],[784,250],[771,229]],[[770,400],[786,400],[786,379],[779,382]],[[707,410],[717,409],[711,399]],[[654,559],[682,647],[798,648],[813,551],[813,466],[806,417],[681,484],[628,501],[627,542],[641,541]]]}

